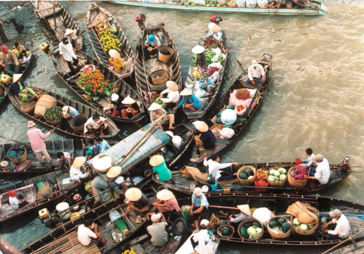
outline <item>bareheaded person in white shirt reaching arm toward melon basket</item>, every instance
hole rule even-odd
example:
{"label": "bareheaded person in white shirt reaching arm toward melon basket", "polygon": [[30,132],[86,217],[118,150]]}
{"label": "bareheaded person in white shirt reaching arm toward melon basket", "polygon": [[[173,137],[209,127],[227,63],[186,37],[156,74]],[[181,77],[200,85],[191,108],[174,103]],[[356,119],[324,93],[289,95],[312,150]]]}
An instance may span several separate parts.
{"label": "bareheaded person in white shirt reaching arm toward melon basket", "polygon": [[237,173],[230,171],[232,165],[239,167],[237,162],[220,163],[220,157],[214,153],[210,159],[203,158],[203,166],[208,167],[209,174],[212,174],[216,181],[229,180],[237,177]]}

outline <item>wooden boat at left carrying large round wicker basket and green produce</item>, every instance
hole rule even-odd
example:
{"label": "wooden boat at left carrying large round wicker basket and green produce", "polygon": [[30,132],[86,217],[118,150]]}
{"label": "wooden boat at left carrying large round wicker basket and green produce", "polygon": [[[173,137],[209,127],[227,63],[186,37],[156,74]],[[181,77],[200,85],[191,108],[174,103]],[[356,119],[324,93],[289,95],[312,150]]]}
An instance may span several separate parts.
{"label": "wooden boat at left carrying large round wicker basket and green produce", "polygon": [[[107,119],[108,134],[100,136],[102,138],[114,137],[120,131],[117,128],[115,122],[113,122],[113,120],[111,120],[108,116],[102,114],[101,112],[99,112],[98,110],[94,109],[91,106],[85,105],[82,102],[75,101],[75,100],[65,97],[63,95],[59,95],[59,94],[53,93],[51,91],[47,91],[45,89],[41,89],[41,88],[37,88],[37,87],[32,87],[32,89],[38,95],[48,94],[48,95],[52,96],[54,99],[56,99],[57,106],[59,106],[61,108],[65,105],[74,107],[80,114],[84,114],[87,117],[87,119],[92,117],[95,113],[98,113],[99,116]],[[67,128],[65,130],[65,129],[61,128],[59,123],[50,123],[50,122],[46,121],[45,119],[36,118],[34,116],[34,107],[35,107],[36,100],[30,100],[29,102],[23,102],[23,101],[20,101],[20,99],[17,96],[15,96],[14,94],[9,94],[9,99],[10,99],[10,102],[12,102],[13,105],[17,108],[17,110],[19,110],[20,112],[22,112],[29,118],[31,118],[39,123],[45,124],[50,128],[54,128],[60,132],[68,134],[68,135],[72,135],[72,136],[76,136],[76,137],[80,137],[80,138],[91,137],[87,133],[83,134],[83,131],[79,132],[79,131],[74,130],[73,128]]]}

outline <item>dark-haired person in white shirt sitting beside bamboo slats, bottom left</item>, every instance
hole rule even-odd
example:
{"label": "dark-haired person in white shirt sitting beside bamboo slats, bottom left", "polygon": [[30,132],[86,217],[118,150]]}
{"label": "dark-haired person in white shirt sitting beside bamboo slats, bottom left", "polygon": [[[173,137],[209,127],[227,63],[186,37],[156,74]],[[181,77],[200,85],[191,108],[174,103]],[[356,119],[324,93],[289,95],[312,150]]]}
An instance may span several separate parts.
{"label": "dark-haired person in white shirt sitting beside bamboo slats, bottom left", "polygon": [[106,239],[102,239],[101,234],[98,231],[98,225],[92,220],[85,220],[84,224],[80,224],[77,229],[77,239],[83,246],[88,246],[91,239],[97,240],[99,245],[105,245]]}

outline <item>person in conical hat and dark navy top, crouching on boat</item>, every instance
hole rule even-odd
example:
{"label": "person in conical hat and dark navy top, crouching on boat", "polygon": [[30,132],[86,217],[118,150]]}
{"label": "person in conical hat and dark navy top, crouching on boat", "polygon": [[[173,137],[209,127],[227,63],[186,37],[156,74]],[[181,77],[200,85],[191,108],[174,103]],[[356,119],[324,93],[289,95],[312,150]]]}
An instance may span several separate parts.
{"label": "person in conical hat and dark navy top, crouching on boat", "polygon": [[204,121],[194,121],[193,125],[197,131],[189,135],[195,135],[195,143],[199,147],[199,151],[215,147],[216,136],[209,129],[209,126]]}

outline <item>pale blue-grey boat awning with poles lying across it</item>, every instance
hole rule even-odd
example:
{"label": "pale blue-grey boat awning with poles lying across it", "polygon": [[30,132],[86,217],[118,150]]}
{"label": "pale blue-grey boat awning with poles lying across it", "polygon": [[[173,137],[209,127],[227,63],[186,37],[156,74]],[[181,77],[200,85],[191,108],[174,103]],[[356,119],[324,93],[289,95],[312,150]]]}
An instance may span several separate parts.
{"label": "pale blue-grey boat awning with poles lying across it", "polygon": [[[125,154],[130,151],[135,143],[146,134],[146,131],[149,129],[150,123],[141,128],[140,130],[134,132],[132,135],[127,136],[105,152],[100,153],[100,155],[109,155],[113,159],[113,164],[116,166],[124,157]],[[155,128],[155,127],[154,127]],[[154,131],[154,129],[152,130]],[[121,166],[121,174],[127,172],[133,166],[147,158],[149,155],[161,149],[166,143],[171,140],[171,137],[167,135],[160,128],[151,135],[145,142],[139,143],[139,147],[129,154],[128,158],[123,161]],[[87,161],[87,163],[92,166],[93,159]]]}

